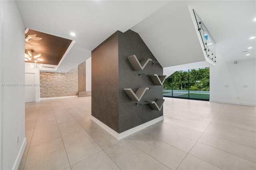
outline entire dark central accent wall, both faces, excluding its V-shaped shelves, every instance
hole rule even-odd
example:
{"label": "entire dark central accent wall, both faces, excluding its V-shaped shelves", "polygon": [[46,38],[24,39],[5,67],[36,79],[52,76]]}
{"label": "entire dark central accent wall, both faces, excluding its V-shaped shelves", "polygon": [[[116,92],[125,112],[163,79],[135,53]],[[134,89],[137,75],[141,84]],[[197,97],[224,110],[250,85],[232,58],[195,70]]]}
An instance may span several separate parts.
{"label": "entire dark central accent wall, both faces, excluding its V-shaped shelves", "polygon": [[123,91],[131,88],[152,87],[141,101],[163,99],[163,87],[154,85],[146,74],[163,74],[159,63],[148,63],[142,71],[134,71],[127,57],[136,55],[139,61],[150,58],[157,61],[140,36],[128,30],[117,31],[92,51],[92,116],[118,133],[156,119],[163,115],[150,105],[138,105]]}

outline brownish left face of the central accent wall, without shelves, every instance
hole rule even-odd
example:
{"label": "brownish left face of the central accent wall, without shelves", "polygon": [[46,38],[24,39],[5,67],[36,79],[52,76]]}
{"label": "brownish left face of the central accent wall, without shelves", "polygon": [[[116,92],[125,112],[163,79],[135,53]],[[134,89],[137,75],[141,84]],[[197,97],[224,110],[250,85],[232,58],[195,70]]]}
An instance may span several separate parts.
{"label": "brownish left face of the central accent wall, without shelves", "polygon": [[92,51],[92,116],[119,131],[118,34]]}

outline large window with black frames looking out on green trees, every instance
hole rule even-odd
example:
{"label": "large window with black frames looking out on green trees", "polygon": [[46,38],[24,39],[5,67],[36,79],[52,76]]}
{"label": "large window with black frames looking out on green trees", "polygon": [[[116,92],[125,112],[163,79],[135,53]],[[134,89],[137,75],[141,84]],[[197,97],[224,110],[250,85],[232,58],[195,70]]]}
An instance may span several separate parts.
{"label": "large window with black frames looking out on green trees", "polygon": [[164,97],[210,99],[209,67],[176,71],[164,81]]}

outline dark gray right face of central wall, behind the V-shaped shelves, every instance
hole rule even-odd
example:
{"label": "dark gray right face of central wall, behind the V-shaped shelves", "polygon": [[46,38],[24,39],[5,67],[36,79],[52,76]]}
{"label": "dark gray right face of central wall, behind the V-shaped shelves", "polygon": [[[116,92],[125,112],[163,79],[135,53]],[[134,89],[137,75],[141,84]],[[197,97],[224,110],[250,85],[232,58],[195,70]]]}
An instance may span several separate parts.
{"label": "dark gray right face of central wall, behind the V-shaped shelves", "polygon": [[163,68],[159,63],[148,63],[142,71],[134,71],[134,68],[127,57],[136,55],[139,61],[150,58],[157,61],[151,51],[138,33],[128,30],[125,33],[118,32],[118,70],[119,70],[119,133],[129,130],[163,115],[161,111],[152,110],[150,105],[138,105],[136,101],[131,101],[124,93],[124,88],[131,88],[134,92],[139,87],[152,87],[147,90],[140,102],[156,99],[163,99],[163,87],[154,85],[150,77],[143,74],[163,75]]}

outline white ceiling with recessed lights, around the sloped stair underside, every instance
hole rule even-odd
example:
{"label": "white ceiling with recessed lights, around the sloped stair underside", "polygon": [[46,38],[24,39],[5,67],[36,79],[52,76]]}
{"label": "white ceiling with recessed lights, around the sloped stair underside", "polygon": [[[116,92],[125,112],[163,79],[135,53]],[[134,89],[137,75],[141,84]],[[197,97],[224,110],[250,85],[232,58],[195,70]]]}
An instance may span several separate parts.
{"label": "white ceiling with recessed lights, around the sloped stair underside", "polygon": [[[256,36],[256,22],[253,21],[256,1],[16,2],[26,28],[76,41],[58,67],[60,72],[66,72],[88,59],[90,51],[117,30],[143,32],[186,5],[200,16],[226,61],[256,57],[255,39],[249,40],[251,36]],[[182,24],[177,25],[177,29],[182,27]],[[168,30],[160,31],[168,34]],[[70,36],[70,32],[75,32],[76,36]],[[154,45],[154,40],[151,43]],[[250,46],[253,48],[247,49]],[[248,51],[250,55],[246,56],[242,51]]]}

